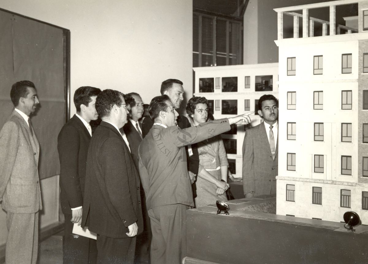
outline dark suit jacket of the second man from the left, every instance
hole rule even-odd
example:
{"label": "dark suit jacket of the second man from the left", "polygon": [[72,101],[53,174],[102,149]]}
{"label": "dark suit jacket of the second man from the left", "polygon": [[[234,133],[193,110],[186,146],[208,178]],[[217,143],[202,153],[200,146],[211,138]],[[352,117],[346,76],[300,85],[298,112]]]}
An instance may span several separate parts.
{"label": "dark suit jacket of the second man from the left", "polygon": [[87,152],[91,136],[76,115],[61,128],[57,137],[60,160],[60,203],[64,214],[83,205]]}

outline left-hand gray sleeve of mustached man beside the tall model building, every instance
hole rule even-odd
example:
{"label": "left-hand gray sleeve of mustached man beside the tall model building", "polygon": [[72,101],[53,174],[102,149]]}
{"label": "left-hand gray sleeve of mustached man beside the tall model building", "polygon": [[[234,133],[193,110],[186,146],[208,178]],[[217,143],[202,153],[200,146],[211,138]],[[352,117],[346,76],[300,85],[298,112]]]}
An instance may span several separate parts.
{"label": "left-hand gray sleeve of mustached man beside the tall model building", "polygon": [[254,190],[254,170],[253,170],[253,158],[254,158],[254,145],[252,135],[249,130],[245,131],[243,142],[243,190],[244,195]]}

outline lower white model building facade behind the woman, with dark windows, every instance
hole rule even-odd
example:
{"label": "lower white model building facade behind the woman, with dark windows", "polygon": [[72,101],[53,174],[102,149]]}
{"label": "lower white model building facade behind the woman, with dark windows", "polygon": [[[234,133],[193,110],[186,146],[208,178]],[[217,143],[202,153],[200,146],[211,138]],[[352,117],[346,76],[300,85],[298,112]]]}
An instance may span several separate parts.
{"label": "lower white model building facade behind the woman, with dark windows", "polygon": [[[277,63],[197,67],[195,71],[194,96],[209,100],[209,108],[215,119],[232,117],[248,112],[257,112],[258,99],[263,94],[278,97]],[[251,126],[258,125],[262,118],[250,114]],[[232,125],[231,131],[222,134],[229,168],[235,178],[242,176],[242,147],[244,125]]]}

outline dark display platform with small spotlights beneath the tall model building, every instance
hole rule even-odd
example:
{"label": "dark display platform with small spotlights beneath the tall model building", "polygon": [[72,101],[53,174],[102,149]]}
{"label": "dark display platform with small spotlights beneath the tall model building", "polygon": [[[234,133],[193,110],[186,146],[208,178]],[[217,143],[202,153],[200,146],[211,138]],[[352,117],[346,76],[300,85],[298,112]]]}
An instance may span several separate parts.
{"label": "dark display platform with small spotlights beneath the tall model building", "polygon": [[275,198],[228,204],[229,215],[216,215],[215,204],[187,210],[187,261],[368,263],[368,226],[359,225],[353,233],[341,231],[339,222],[265,213],[273,212]]}

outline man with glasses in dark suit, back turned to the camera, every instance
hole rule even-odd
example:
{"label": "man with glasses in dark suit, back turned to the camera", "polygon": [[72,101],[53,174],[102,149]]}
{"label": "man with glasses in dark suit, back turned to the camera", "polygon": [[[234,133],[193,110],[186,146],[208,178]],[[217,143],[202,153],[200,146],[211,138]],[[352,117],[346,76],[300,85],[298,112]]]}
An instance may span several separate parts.
{"label": "man with glasses in dark suit, back turned to the camera", "polygon": [[135,236],[142,232],[139,176],[126,137],[124,94],[103,90],[96,99],[101,118],[89,144],[82,227],[97,233],[98,263],[133,263]]}

